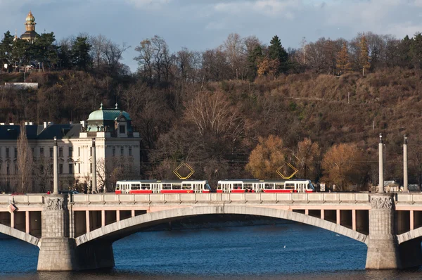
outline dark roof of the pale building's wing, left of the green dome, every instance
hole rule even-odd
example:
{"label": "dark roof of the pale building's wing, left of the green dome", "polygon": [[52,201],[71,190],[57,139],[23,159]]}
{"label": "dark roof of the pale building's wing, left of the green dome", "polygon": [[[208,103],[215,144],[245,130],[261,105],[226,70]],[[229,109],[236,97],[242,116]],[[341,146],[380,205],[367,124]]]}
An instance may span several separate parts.
{"label": "dark roof of the pale building's wing, left of the green dome", "polygon": [[[26,125],[27,139],[68,139],[79,137],[82,125]],[[0,125],[0,140],[16,140],[20,134],[19,125]]]}

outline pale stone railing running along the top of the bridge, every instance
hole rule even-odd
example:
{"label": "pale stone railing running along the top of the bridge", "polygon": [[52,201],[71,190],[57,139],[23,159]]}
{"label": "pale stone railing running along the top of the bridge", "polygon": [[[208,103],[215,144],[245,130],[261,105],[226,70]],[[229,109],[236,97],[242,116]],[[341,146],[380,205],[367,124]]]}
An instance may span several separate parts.
{"label": "pale stone railing running along the top of the bridge", "polygon": [[[369,203],[370,193],[151,193],[76,194],[70,203]],[[0,195],[0,204],[44,204],[47,194]],[[422,204],[422,193],[397,193],[397,204]]]}

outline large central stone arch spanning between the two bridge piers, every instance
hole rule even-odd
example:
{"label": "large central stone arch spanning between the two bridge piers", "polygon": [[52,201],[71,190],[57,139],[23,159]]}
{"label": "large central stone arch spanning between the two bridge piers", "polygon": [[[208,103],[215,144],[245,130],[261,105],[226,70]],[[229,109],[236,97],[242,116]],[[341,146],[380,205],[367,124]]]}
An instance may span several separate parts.
{"label": "large central stone arch spanning between the two bridge piers", "polygon": [[357,241],[367,243],[367,237],[365,234],[361,234],[347,227],[340,226],[333,222],[328,222],[324,219],[319,219],[309,215],[305,215],[298,212],[292,212],[288,210],[279,210],[274,208],[265,208],[259,206],[190,206],[186,208],[176,208],[171,210],[163,210],[158,212],[150,212],[147,214],[139,215],[129,219],[123,219],[113,224],[108,224],[106,227],[101,227],[94,231],[90,231],[87,234],[83,234],[76,238],[77,246],[81,246],[84,243],[90,241],[110,241],[114,242],[120,238],[124,238],[131,234],[151,227],[155,224],[161,224],[162,222],[170,222],[174,219],[180,219],[182,217],[191,217],[197,215],[211,215],[211,214],[239,214],[239,215],[255,215],[263,217],[275,217],[280,219],[288,219],[294,222],[300,222],[302,224],[309,224],[314,227],[321,227],[333,231],[337,234],[350,237]]}

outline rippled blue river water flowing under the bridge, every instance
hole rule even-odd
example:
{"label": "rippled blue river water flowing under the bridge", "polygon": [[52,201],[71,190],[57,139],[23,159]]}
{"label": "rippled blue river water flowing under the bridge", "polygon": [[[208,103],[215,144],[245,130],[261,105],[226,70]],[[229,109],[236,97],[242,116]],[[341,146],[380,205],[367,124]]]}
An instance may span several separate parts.
{"label": "rippled blue river water flowing under the bridge", "polygon": [[422,279],[421,269],[366,271],[366,245],[303,224],[148,231],[113,249],[113,269],[37,272],[37,247],[0,240],[0,278]]}

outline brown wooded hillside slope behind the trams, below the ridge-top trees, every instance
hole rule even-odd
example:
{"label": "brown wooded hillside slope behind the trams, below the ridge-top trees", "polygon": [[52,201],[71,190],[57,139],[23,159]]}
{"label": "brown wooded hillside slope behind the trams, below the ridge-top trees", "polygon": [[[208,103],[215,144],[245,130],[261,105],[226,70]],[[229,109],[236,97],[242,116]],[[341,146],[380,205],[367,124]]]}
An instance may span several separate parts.
{"label": "brown wooded hillside slope behind the trams, below the ridge-top trees", "polygon": [[[310,156],[305,155],[306,177],[328,181],[329,171],[321,169],[324,154],[334,144],[355,144],[362,150],[362,159],[353,160],[359,165],[347,171],[356,173],[347,174],[354,178],[348,184],[362,186],[378,177],[380,132],[385,136],[386,179],[401,180],[402,141],[408,134],[409,181],[419,183],[421,77],[421,70],[386,68],[364,77],[360,73],[338,77],[309,72],[281,75],[276,80],[161,89],[127,82],[125,87],[113,85],[113,96],[107,78],[81,71],[33,72],[28,78],[40,83],[37,91],[0,89],[0,119],[79,122],[101,102],[114,107],[117,98],[141,132],[141,177],[172,178],[172,170],[181,161],[196,169],[196,178],[252,177],[245,171],[250,152],[260,137],[274,135],[282,140],[280,149],[286,161],[302,167],[300,177],[306,171],[297,157],[298,144],[304,139],[318,144],[319,152],[311,162],[306,162]],[[273,175],[278,177],[275,170]]]}

